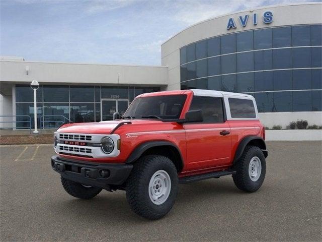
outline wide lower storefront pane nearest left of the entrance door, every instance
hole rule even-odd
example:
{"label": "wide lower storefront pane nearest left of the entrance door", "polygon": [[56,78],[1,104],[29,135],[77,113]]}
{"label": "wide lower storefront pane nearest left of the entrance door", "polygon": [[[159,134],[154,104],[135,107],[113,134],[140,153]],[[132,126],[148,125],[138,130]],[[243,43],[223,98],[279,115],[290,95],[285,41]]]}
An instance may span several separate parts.
{"label": "wide lower storefront pane nearest left of the entrance door", "polygon": [[71,103],[70,119],[75,123],[95,122],[94,103]]}

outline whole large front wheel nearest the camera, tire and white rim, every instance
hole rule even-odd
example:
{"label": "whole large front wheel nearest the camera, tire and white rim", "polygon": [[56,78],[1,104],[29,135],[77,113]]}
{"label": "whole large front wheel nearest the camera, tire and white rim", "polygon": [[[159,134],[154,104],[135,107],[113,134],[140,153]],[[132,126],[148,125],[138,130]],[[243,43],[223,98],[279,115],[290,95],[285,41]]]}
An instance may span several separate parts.
{"label": "whole large front wheel nearest the camera, tire and white rim", "polygon": [[165,216],[175,203],[178,173],[174,163],[162,155],[147,155],[134,164],[127,180],[126,198],[131,209],[148,219]]}

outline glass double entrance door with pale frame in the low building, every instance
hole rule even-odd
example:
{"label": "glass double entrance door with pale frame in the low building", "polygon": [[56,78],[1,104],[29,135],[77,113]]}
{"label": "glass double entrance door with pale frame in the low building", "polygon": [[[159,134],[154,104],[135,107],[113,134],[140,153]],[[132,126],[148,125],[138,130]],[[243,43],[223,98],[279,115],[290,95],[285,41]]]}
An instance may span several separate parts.
{"label": "glass double entrance door with pale frame in the low building", "polygon": [[113,113],[119,112],[122,116],[129,106],[128,99],[101,99],[101,120],[113,120]]}

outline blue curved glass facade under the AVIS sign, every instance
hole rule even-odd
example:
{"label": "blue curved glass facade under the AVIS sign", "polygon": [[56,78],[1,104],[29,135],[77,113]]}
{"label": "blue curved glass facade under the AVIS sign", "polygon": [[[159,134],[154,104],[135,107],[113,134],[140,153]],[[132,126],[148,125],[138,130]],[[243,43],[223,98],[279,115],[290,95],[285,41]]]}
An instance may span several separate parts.
{"label": "blue curved glass facade under the AVIS sign", "polygon": [[322,25],[250,30],[180,49],[181,89],[251,94],[260,112],[322,110]]}

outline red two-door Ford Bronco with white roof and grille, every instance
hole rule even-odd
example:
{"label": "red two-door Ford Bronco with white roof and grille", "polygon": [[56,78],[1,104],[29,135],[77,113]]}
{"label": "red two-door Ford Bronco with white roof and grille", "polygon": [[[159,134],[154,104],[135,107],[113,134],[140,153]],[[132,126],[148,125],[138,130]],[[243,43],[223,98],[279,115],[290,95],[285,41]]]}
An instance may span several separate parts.
{"label": "red two-door Ford Bronco with white roof and grille", "polygon": [[179,183],[232,175],[240,190],[264,181],[265,129],[253,96],[181,90],[137,96],[115,120],[65,124],[54,134],[52,168],[65,191],[90,199],[125,190],[131,209],[158,219]]}

